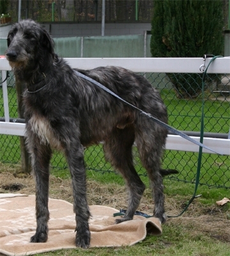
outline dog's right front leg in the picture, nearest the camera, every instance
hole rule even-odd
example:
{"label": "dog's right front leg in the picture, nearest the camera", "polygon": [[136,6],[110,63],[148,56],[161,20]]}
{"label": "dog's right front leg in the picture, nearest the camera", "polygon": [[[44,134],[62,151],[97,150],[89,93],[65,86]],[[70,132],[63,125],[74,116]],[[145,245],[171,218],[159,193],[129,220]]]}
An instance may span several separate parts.
{"label": "dog's right front leg in the picture, nearest the camera", "polygon": [[86,170],[84,166],[84,148],[79,141],[70,143],[66,148],[66,159],[72,175],[73,211],[76,220],[76,240],[78,247],[88,248],[90,244],[89,208],[86,199]]}

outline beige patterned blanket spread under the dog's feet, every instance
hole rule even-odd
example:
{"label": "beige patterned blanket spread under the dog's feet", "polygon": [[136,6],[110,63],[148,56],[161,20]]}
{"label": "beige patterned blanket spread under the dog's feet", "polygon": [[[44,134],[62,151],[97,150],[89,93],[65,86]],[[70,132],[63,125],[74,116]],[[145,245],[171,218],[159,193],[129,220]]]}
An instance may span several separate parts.
{"label": "beige patterned blanket spread under the dog's feet", "polygon": [[[75,248],[73,205],[55,199],[49,199],[47,243],[29,243],[36,230],[34,205],[35,196],[0,194],[0,253],[19,256]],[[162,234],[157,218],[135,216],[132,221],[114,225],[113,214],[118,210],[92,205],[90,211],[91,247],[132,245],[142,241],[147,233]]]}

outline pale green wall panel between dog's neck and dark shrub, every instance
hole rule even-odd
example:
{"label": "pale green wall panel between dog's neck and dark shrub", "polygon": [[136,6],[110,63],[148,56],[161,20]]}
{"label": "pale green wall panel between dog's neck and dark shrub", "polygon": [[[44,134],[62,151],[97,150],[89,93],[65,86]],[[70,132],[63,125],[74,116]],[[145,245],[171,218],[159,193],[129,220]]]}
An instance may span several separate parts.
{"label": "pale green wall panel between dog's neck and dark shrub", "polygon": [[[146,57],[151,57],[151,35],[146,36]],[[54,38],[55,51],[63,58],[144,58],[144,35],[75,36]]]}

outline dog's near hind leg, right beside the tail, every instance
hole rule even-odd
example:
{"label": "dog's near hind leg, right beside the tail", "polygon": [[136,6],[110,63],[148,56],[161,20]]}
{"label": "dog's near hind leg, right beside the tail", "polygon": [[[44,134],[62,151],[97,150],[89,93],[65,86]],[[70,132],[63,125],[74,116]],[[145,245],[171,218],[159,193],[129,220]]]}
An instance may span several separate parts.
{"label": "dog's near hind leg, right beside the tail", "polygon": [[166,220],[164,211],[164,186],[162,175],[160,174],[160,165],[167,131],[147,118],[145,120],[141,119],[137,122],[135,142],[137,143],[141,162],[150,178],[155,203],[153,215],[164,223]]}

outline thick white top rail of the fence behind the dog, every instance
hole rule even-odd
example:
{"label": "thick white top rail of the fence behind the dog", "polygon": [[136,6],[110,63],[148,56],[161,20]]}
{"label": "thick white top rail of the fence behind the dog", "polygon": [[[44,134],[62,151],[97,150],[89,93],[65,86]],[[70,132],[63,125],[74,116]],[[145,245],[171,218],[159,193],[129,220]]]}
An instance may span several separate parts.
{"label": "thick white top rail of the fence behind the dog", "polygon": [[[134,72],[201,73],[203,58],[65,58],[72,68],[91,69],[119,66]],[[211,58],[206,59],[206,67]],[[8,61],[0,58],[0,70],[11,70]],[[208,68],[208,74],[230,74],[230,57],[217,58]]]}

